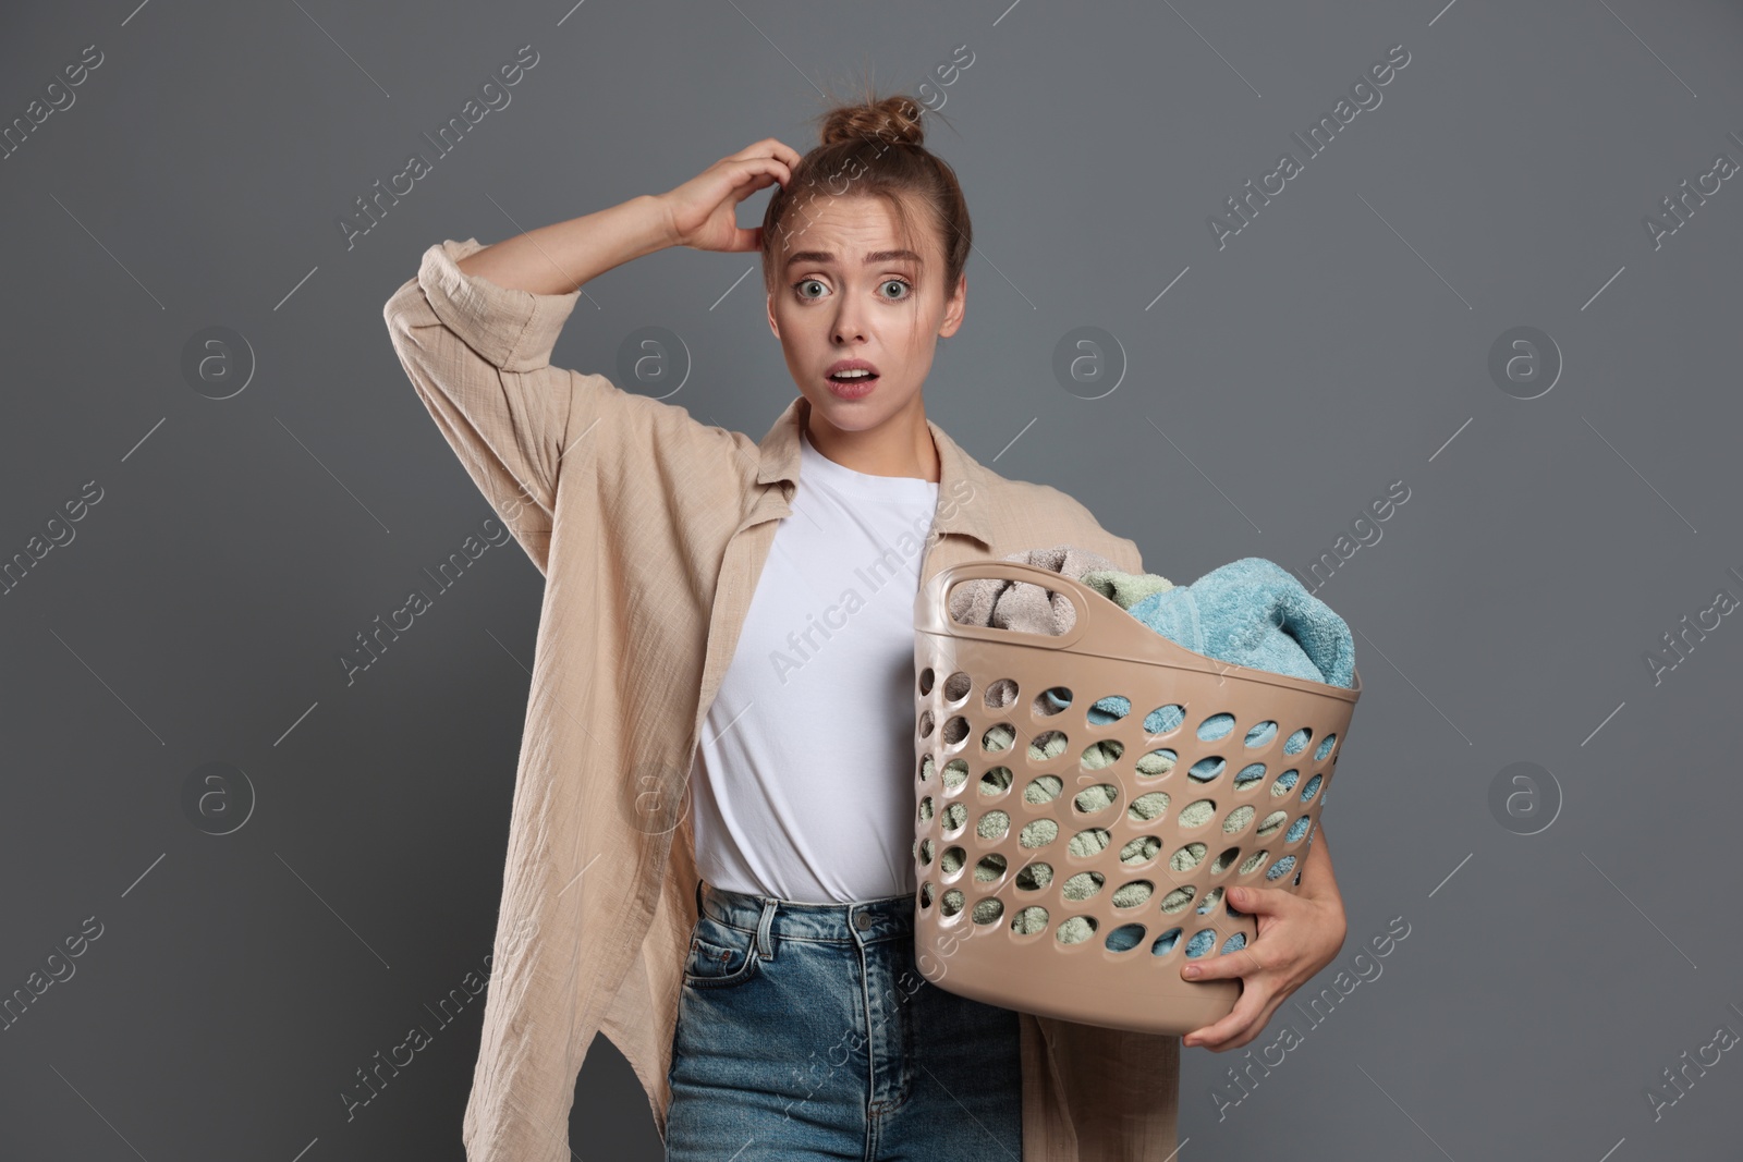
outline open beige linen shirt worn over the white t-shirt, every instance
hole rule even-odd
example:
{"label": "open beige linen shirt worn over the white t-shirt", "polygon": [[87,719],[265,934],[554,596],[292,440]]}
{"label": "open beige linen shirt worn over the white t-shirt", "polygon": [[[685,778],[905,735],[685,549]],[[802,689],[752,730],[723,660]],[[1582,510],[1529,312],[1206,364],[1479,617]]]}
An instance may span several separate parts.
{"label": "open beige linen shirt worn over the white t-shirt", "polygon": [[[664,1136],[690,927],[687,798],[708,707],[798,479],[793,399],[762,441],[553,368],[579,301],[505,289],[444,240],[382,310],[472,481],[544,573],[469,1162],[566,1162],[594,1033],[629,1059]],[[1143,571],[1072,497],[981,467],[936,423],[924,580],[971,557],[1070,544]],[[680,730],[683,726],[683,730]],[[1161,1162],[1180,1038],[1021,1014],[1021,1162]]]}

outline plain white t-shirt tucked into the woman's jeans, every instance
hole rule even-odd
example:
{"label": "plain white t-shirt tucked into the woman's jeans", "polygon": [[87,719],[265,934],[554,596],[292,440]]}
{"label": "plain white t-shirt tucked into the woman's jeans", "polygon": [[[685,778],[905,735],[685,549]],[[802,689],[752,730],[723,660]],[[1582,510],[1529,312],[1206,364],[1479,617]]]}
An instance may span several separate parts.
{"label": "plain white t-shirt tucked into the woman's jeans", "polygon": [[800,902],[913,892],[913,598],[938,484],[868,476],[800,436],[690,772],[697,869]]}

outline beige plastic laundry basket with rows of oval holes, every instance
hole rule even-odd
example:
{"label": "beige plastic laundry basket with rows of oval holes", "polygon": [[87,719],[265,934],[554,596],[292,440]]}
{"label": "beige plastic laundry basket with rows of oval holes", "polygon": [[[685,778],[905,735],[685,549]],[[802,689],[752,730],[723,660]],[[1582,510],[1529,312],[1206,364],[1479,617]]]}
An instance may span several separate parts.
{"label": "beige plastic laundry basket with rows of oval holes", "polygon": [[[1075,622],[1049,636],[950,620],[950,591],[974,578],[1063,594]],[[1185,981],[1182,960],[1253,941],[1229,887],[1297,888],[1360,672],[1346,690],[1218,662],[1016,561],[945,568],[913,611],[926,979],[1143,1033],[1227,1016],[1239,979]],[[1096,725],[1109,695],[1131,707]]]}

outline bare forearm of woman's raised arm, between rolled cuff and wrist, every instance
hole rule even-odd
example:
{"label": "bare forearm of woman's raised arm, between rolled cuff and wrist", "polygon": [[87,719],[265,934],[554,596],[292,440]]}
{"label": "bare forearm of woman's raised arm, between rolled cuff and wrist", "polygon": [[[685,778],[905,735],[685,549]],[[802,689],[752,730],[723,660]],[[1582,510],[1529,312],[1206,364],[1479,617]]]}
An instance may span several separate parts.
{"label": "bare forearm of woman's raised arm, between rolled cuff and wrist", "polygon": [[650,193],[516,233],[458,261],[464,274],[533,294],[568,294],[612,267],[675,246],[666,204]]}

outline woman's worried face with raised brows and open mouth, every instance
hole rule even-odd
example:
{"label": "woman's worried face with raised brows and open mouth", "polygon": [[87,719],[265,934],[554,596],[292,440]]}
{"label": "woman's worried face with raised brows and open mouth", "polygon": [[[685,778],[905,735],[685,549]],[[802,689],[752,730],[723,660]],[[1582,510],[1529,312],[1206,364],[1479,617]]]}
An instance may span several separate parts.
{"label": "woman's worried face with raised brows and open mouth", "polygon": [[[769,328],[810,401],[812,423],[865,432],[919,406],[938,338],[962,326],[967,275],[946,296],[936,232],[922,207],[908,206],[917,258],[896,254],[898,221],[880,197],[819,197],[788,218]],[[868,254],[880,256],[868,261]],[[842,361],[870,364],[877,378],[837,383],[830,373]]]}

